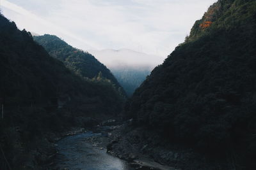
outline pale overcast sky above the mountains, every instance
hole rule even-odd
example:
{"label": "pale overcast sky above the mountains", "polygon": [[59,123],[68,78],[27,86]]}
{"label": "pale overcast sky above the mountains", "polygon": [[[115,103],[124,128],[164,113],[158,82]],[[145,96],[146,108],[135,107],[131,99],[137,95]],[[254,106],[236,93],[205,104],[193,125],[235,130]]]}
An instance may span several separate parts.
{"label": "pale overcast sky above the mountains", "polygon": [[216,0],[0,0],[20,29],[82,50],[129,48],[166,57]]}

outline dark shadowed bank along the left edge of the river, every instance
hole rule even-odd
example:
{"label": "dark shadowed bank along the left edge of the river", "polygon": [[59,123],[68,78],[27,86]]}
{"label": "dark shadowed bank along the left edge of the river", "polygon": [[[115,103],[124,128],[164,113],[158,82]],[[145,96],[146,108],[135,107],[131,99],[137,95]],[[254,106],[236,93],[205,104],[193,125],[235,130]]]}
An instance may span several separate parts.
{"label": "dark shadowed bank along the left edge of the river", "polygon": [[[80,121],[81,122],[81,121]],[[45,131],[37,134],[33,139],[29,141],[27,145],[17,141],[19,146],[19,153],[13,155],[13,157],[22,157],[22,167],[20,170],[30,170],[30,169],[49,169],[51,164],[54,164],[54,157],[58,153],[56,149],[56,143],[67,136],[73,136],[79,133],[86,132],[86,129],[90,129],[97,124],[100,124],[102,120],[96,118],[83,118],[83,124],[76,124],[76,127],[66,125],[61,127],[58,131]],[[86,126],[85,126],[86,125]],[[16,129],[15,133],[17,136],[24,134],[26,131],[24,129]],[[17,148],[17,146],[15,146]],[[14,158],[15,159],[15,158]]]}

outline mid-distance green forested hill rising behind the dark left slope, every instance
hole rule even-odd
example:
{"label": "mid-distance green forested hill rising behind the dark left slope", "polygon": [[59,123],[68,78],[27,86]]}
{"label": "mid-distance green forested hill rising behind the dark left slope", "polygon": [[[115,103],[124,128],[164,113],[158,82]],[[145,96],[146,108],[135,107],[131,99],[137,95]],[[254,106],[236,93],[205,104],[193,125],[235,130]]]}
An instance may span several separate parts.
{"label": "mid-distance green forested hill rising behind the dark left slope", "polygon": [[95,78],[99,75],[110,80],[116,89],[120,90],[125,96],[123,88],[120,86],[115,76],[109,69],[100,63],[93,55],[83,52],[77,48],[68,45],[65,41],[45,34],[44,36],[34,36],[35,41],[44,46],[45,50],[54,58],[64,62],[65,66],[84,78]]}

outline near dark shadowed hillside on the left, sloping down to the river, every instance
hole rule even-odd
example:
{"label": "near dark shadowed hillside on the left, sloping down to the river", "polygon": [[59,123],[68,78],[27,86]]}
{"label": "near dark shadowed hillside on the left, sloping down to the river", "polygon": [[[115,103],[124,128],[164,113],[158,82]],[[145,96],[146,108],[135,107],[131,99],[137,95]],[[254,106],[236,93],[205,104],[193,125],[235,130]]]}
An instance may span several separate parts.
{"label": "near dark shadowed hillside on the left, sloping down to the river", "polygon": [[49,134],[122,109],[124,98],[106,78],[77,76],[2,15],[0,59],[0,169],[40,169],[55,153]]}

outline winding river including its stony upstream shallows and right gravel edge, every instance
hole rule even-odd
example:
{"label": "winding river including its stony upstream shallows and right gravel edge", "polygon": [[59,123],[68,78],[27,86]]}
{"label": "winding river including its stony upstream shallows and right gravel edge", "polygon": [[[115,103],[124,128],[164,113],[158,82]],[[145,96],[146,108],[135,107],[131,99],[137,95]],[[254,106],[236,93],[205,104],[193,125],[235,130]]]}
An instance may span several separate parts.
{"label": "winding river including its stony upstream shallows and right gravel edge", "polygon": [[80,129],[65,133],[67,137],[56,142],[57,154],[47,169],[175,169],[163,166],[143,155],[130,154],[124,157],[111,152],[109,144],[119,138],[119,129],[122,129],[122,124],[108,120],[89,131]]}

